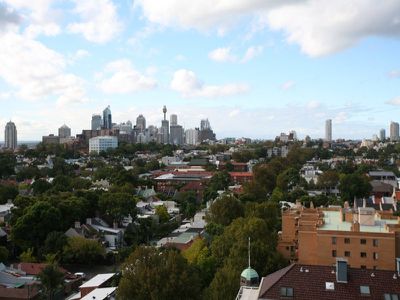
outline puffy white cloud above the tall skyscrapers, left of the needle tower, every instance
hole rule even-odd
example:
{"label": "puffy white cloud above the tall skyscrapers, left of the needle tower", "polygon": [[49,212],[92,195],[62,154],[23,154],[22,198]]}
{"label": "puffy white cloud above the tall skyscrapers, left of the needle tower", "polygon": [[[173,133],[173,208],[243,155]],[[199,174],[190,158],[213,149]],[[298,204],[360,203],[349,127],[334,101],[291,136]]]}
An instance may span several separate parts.
{"label": "puffy white cloud above the tall skyscrapers, left of the needle tower", "polygon": [[[110,77],[104,78],[105,75]],[[104,72],[96,77],[100,81],[99,88],[107,94],[127,94],[157,87],[155,79],[135,70],[128,59],[110,62]]]}

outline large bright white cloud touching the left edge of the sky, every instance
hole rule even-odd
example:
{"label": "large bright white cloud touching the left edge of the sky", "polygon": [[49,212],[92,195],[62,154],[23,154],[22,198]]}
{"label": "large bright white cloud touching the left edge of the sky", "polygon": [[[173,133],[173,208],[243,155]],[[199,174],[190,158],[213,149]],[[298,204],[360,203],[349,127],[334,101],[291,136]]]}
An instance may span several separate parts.
{"label": "large bright white cloud touching the left edge of the sky", "polygon": [[0,36],[0,77],[26,100],[57,96],[61,103],[85,98],[84,82],[65,73],[65,58],[38,41],[16,33]]}

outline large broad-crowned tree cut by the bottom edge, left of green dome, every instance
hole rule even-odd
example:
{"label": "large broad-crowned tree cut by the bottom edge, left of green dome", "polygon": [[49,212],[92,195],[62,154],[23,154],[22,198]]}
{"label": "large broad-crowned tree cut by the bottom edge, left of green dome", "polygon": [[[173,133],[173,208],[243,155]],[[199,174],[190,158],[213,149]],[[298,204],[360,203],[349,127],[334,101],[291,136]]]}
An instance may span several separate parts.
{"label": "large broad-crowned tree cut by the bottom edge, left of green dome", "polygon": [[117,297],[130,299],[200,299],[200,279],[175,250],[138,247],[123,264]]}

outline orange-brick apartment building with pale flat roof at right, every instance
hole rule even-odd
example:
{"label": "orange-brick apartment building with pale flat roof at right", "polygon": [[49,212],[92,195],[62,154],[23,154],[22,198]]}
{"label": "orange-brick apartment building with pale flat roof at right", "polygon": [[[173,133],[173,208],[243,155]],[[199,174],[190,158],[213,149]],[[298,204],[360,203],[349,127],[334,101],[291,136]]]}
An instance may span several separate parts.
{"label": "orange-brick apartment building with pale flat roof at right", "polygon": [[400,257],[399,220],[374,208],[298,204],[282,213],[278,251],[300,264],[329,266],[343,257],[352,268],[395,270]]}

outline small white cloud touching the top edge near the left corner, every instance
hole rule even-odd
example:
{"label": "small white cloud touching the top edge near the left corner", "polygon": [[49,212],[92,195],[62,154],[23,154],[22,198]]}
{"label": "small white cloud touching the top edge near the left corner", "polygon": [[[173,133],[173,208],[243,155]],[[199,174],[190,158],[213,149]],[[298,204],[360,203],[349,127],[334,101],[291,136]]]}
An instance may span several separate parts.
{"label": "small white cloud touching the top edge near the left corner", "polygon": [[28,21],[24,34],[28,38],[35,38],[41,34],[55,36],[61,33],[58,25],[59,11],[52,8],[54,0],[4,0],[7,5],[16,9],[21,19]]}

